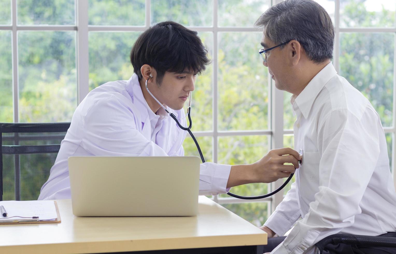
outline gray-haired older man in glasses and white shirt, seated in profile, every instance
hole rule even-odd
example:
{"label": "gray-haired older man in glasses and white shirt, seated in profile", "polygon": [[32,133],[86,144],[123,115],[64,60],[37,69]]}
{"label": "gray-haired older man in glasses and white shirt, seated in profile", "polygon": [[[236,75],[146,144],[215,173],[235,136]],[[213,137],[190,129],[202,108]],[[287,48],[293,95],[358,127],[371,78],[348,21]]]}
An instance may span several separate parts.
{"label": "gray-haired older man in glasses and white shirt, seated in profile", "polygon": [[[314,253],[314,244],[329,235],[396,231],[396,193],[381,120],[335,71],[334,29],[326,10],[312,0],[286,0],[256,25],[263,28],[263,64],[276,88],[293,94],[294,144],[304,150],[295,183],[261,228],[274,237],[294,227],[286,238],[268,239],[279,245],[266,251]],[[396,253],[347,244],[329,248],[326,253]]]}

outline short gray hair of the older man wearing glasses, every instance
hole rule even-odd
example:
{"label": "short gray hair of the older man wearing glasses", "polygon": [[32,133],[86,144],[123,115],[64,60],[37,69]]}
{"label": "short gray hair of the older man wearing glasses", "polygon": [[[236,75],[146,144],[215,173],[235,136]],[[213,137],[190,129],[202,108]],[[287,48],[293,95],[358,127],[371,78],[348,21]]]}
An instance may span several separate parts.
{"label": "short gray hair of the older man wearing glasses", "polygon": [[297,40],[315,63],[333,58],[333,23],[327,11],[312,0],[280,2],[265,11],[255,25],[262,27],[264,36],[275,45]]}

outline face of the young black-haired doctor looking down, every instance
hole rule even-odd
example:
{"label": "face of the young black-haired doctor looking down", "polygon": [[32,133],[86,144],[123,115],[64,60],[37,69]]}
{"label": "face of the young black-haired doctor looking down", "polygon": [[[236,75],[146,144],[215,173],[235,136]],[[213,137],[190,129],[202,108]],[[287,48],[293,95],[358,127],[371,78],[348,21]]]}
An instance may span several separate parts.
{"label": "face of the young black-haired doctor looking down", "polygon": [[183,108],[186,101],[188,103],[190,93],[194,91],[195,80],[196,75],[192,73],[171,73],[167,71],[160,86],[157,86],[157,84],[152,86],[152,93],[161,103],[173,110],[179,110]]}

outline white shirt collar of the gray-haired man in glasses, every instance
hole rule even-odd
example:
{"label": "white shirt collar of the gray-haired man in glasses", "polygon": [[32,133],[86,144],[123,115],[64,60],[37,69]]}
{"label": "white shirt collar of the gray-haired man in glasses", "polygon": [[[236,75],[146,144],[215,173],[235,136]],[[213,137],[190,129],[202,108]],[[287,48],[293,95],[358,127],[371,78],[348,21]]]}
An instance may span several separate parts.
{"label": "white shirt collar of the gray-haired man in glasses", "polygon": [[337,74],[337,71],[335,71],[333,63],[330,62],[318,74],[316,74],[314,78],[312,78],[312,80],[298,96],[291,96],[290,103],[293,108],[293,115],[295,115],[295,110],[299,109],[304,118],[307,119],[314,100],[326,83],[335,74]]}

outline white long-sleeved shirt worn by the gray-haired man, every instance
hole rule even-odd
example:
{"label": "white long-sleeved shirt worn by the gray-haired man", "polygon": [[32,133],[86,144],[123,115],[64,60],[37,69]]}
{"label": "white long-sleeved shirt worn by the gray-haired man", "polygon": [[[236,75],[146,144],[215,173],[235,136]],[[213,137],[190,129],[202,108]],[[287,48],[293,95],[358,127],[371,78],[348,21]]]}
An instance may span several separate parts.
{"label": "white long-sleeved shirt worn by the gray-haired man", "polygon": [[370,102],[329,63],[291,104],[303,165],[264,225],[282,236],[297,223],[271,253],[312,253],[315,243],[337,233],[396,231],[385,134]]}

